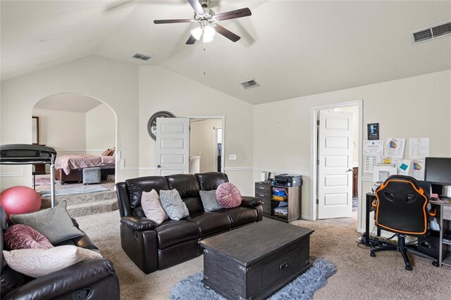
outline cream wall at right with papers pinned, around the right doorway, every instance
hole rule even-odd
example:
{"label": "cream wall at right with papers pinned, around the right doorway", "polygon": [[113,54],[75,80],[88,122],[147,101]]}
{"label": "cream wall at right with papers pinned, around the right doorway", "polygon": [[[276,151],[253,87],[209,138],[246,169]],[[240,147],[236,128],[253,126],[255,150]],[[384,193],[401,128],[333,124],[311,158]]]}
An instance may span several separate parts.
{"label": "cream wall at right with papers pinned, around the right doorway", "polygon": [[[254,180],[259,180],[260,170],[302,174],[306,217],[312,202],[311,108],[358,99],[363,99],[364,137],[366,124],[379,123],[383,140],[429,137],[431,156],[451,156],[451,72],[446,70],[254,106]],[[363,195],[370,176],[364,173]],[[364,212],[363,206],[360,211]]]}

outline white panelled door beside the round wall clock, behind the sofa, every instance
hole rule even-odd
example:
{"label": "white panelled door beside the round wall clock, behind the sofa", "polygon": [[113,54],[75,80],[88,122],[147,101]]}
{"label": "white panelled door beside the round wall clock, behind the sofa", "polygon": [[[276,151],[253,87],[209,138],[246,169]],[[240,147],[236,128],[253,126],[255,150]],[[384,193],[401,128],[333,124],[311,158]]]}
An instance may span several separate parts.
{"label": "white panelled door beside the round wall clock, behind the sofa", "polygon": [[155,155],[159,175],[189,173],[190,119],[156,118]]}

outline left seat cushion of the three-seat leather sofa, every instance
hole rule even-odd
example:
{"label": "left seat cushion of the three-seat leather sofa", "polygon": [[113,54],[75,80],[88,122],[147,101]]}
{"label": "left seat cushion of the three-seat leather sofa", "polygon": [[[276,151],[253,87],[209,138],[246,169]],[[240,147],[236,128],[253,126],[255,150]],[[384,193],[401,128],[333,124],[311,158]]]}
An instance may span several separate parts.
{"label": "left seat cushion of the three-seat leather sofa", "polygon": [[199,238],[199,225],[189,220],[166,220],[155,231],[158,249]]}

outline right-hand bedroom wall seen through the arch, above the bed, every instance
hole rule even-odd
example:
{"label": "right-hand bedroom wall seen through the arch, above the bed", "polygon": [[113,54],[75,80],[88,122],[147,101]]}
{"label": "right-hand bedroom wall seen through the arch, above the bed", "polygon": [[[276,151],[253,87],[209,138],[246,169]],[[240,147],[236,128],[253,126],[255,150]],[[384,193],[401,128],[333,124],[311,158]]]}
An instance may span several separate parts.
{"label": "right-hand bedroom wall seen through the arch, above the bed", "polygon": [[111,108],[101,104],[86,113],[86,152],[101,154],[116,144],[116,118]]}

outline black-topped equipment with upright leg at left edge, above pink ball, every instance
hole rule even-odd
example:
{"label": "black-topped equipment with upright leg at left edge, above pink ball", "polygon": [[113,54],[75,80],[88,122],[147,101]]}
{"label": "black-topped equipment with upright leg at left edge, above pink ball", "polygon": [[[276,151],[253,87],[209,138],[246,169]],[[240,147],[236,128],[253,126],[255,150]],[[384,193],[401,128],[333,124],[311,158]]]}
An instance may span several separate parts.
{"label": "black-topped equipment with upright leg at left edge, above pink ball", "polygon": [[51,147],[33,144],[0,145],[0,165],[50,165],[51,207],[55,206],[55,159],[56,151]]}

